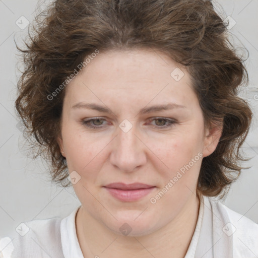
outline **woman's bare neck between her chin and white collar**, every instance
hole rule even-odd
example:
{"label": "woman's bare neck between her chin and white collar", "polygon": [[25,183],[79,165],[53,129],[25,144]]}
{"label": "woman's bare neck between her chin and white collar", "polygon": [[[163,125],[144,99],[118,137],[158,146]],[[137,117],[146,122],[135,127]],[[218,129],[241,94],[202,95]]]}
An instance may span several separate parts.
{"label": "woman's bare neck between her chin and white collar", "polygon": [[76,216],[76,231],[84,257],[183,258],[195,231],[200,201],[192,195],[172,221],[159,230],[144,236],[115,234],[95,220],[81,206]]}

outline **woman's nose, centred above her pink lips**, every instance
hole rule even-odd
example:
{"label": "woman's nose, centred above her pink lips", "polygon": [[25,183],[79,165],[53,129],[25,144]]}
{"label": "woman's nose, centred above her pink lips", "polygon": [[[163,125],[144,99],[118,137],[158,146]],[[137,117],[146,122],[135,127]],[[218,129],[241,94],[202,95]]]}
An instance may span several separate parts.
{"label": "woman's nose, centred above her pink lips", "polygon": [[146,163],[146,148],[135,125],[127,133],[117,127],[110,162],[122,172],[133,172]]}

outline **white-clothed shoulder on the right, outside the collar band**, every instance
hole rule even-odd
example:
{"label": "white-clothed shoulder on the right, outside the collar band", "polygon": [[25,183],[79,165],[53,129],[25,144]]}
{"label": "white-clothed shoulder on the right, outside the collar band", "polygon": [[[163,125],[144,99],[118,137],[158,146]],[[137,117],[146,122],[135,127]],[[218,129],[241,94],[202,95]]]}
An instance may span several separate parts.
{"label": "white-clothed shoulder on the right, outside the collar band", "polygon": [[221,218],[227,218],[227,223],[222,231],[233,237],[234,257],[258,256],[258,224],[239,214],[223,203],[210,199],[211,206]]}

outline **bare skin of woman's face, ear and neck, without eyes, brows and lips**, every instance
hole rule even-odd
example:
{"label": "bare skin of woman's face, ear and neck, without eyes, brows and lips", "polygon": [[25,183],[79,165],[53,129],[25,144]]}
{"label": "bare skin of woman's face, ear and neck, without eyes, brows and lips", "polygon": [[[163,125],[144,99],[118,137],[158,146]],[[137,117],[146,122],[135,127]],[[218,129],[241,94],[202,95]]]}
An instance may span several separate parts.
{"label": "bare skin of woman's face, ear and neck, without eyes, brows and lips", "polygon": [[[178,82],[170,76],[175,68],[184,73]],[[174,60],[141,49],[100,52],[67,86],[58,143],[70,173],[81,176],[73,187],[82,204],[76,229],[84,257],[184,257],[198,218],[202,158],[216,149],[222,132],[220,126],[205,130],[190,85],[189,74]],[[78,102],[112,113],[73,108]],[[139,113],[170,102],[185,108]],[[100,128],[82,123],[96,117],[104,120],[91,124]],[[156,117],[176,122],[165,127],[169,123]],[[132,124],[127,133],[119,128],[124,119]],[[203,157],[152,204],[150,198],[198,153]],[[141,200],[122,202],[102,187],[112,182],[156,188]],[[126,236],[119,230],[124,223],[132,228]]]}

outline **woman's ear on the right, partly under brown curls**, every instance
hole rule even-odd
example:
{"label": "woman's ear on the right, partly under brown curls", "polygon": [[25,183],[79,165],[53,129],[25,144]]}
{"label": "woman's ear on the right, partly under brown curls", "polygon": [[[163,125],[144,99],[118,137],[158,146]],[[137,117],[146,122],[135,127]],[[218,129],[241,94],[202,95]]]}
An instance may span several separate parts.
{"label": "woman's ear on the right, partly under brown curls", "polygon": [[209,129],[206,129],[205,132],[205,139],[204,139],[204,146],[203,146],[203,157],[207,157],[211,155],[220,140],[223,130],[223,119],[218,122],[213,122]]}

